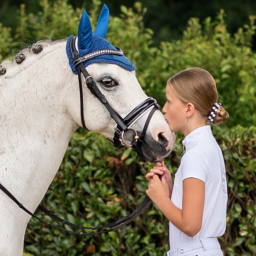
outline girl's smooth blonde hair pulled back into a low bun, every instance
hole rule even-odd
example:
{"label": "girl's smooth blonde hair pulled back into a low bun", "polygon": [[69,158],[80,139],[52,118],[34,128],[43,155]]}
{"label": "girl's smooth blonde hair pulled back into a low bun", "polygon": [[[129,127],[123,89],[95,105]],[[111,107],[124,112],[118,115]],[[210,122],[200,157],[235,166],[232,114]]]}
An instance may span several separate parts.
{"label": "girl's smooth blonde hair pulled back into a low bun", "polygon": [[[208,71],[198,67],[188,68],[169,78],[167,84],[184,104],[191,102],[195,109],[208,120],[212,107],[218,100],[215,80]],[[226,122],[228,118],[227,111],[220,107],[212,122],[220,124]]]}

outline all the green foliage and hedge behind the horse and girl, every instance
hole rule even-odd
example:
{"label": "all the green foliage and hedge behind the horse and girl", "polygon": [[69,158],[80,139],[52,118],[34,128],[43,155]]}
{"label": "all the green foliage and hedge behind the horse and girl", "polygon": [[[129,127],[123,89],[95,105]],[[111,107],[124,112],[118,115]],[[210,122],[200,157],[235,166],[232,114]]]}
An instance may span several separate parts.
{"label": "all the green foliage and hedge behind the horse and girl", "polygon": [[[166,80],[180,70],[202,67],[215,78],[219,100],[230,113],[227,123],[213,127],[229,188],[227,231],[220,242],[225,255],[256,255],[255,1],[105,3],[111,12],[107,39],[134,62],[143,90],[161,106]],[[100,0],[2,0],[0,62],[38,40],[76,35],[84,8],[95,27],[101,7]],[[183,137],[176,135],[166,158],[172,174],[183,154]],[[116,221],[145,197],[151,166],[130,148],[117,150],[104,137],[79,128],[42,203],[80,225]],[[102,236],[73,236],[32,218],[24,255],[160,256],[168,247],[168,221],[151,204],[131,224]]]}

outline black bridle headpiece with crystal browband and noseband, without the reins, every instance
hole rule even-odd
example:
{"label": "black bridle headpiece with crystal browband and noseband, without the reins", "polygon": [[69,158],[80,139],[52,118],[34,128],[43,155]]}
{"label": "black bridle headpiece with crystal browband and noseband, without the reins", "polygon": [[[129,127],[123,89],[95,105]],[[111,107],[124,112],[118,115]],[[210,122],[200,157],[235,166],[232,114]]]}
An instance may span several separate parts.
{"label": "black bridle headpiece with crystal browband and noseband, without the reins", "polygon": [[[101,93],[99,88],[97,87],[95,81],[93,81],[93,78],[89,75],[86,68],[84,67],[84,63],[92,58],[98,57],[100,55],[105,54],[113,54],[113,55],[123,55],[123,51],[120,48],[116,47],[116,50],[113,49],[101,49],[96,52],[92,52],[90,54],[84,55],[83,57],[79,57],[79,52],[76,49],[76,37],[73,37],[70,41],[70,49],[73,56],[73,64],[75,65],[77,72],[78,72],[78,78],[79,78],[79,91],[80,91],[80,113],[81,113],[81,122],[84,129],[86,128],[85,122],[84,122],[84,99],[83,99],[83,87],[82,87],[82,81],[81,81],[81,73],[84,75],[87,87],[90,89],[90,92],[93,93],[94,96],[96,96],[97,99],[107,108],[108,112],[110,113],[111,117],[116,122],[116,127],[113,135],[113,145],[115,145],[117,148],[122,148],[125,145],[131,146],[134,151],[137,152],[138,156],[143,162],[148,161],[148,158],[145,157],[143,154],[143,151],[141,150],[142,144],[145,142],[145,133],[148,128],[148,124],[150,122],[150,119],[157,109],[160,108],[160,106],[157,104],[157,101],[153,99],[152,97],[148,97],[143,102],[141,102],[139,105],[137,105],[132,111],[130,111],[124,118],[120,116],[108,103],[105,96]],[[148,115],[148,118],[145,122],[143,130],[136,131],[134,128],[131,127],[131,125],[142,116],[145,111],[147,111],[149,108],[151,109],[151,112]],[[131,142],[131,144],[128,144],[124,140],[124,134],[128,130],[134,131],[134,138]]]}

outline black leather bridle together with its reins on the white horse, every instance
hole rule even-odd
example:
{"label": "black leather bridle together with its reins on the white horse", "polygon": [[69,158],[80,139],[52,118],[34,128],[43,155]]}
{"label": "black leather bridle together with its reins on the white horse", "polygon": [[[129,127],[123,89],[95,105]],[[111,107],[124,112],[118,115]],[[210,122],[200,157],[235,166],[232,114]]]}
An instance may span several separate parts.
{"label": "black leather bridle together with its reins on the white horse", "polygon": [[[113,144],[117,148],[122,148],[125,145],[128,145],[127,143],[125,143],[123,135],[128,130],[134,131],[135,136],[134,136],[134,139],[131,142],[131,144],[129,144],[129,146],[131,146],[137,152],[137,154],[139,155],[141,160],[146,162],[148,159],[143,154],[143,152],[141,150],[141,145],[144,143],[144,136],[145,136],[146,130],[148,128],[148,123],[151,119],[151,116],[153,115],[154,111],[156,111],[157,109],[160,108],[160,106],[157,104],[157,101],[155,99],[153,99],[152,97],[148,97],[143,102],[141,102],[139,105],[137,105],[136,108],[134,108],[132,111],[130,111],[124,118],[122,118],[111,107],[111,105],[108,103],[108,101],[105,99],[105,96],[101,93],[101,91],[97,87],[96,83],[93,81],[92,77],[88,74],[88,72],[85,69],[83,63],[85,61],[91,59],[91,58],[94,58],[94,57],[99,56],[99,55],[104,55],[104,54],[123,55],[123,51],[119,48],[116,48],[116,50],[102,49],[102,50],[90,53],[90,54],[85,55],[85,56],[80,58],[79,53],[76,50],[75,40],[76,40],[76,38],[71,39],[71,42],[70,42],[70,47],[71,48],[70,49],[71,49],[72,55],[73,55],[73,63],[75,64],[75,66],[77,68],[77,71],[78,71],[79,89],[80,89],[80,112],[81,112],[81,122],[82,122],[83,128],[87,129],[86,125],[85,125],[85,122],[84,122],[84,103],[83,103],[84,100],[83,100],[83,87],[82,87],[82,82],[81,82],[81,73],[84,75],[87,87],[90,89],[91,93],[93,93],[93,95],[95,95],[100,100],[100,102],[102,102],[102,104],[108,109],[111,117],[116,122],[116,128],[115,128],[115,132],[114,132],[114,136],[113,136]],[[145,125],[144,125],[144,128],[143,128],[142,132],[136,131],[134,128],[130,127],[130,125],[133,122],[135,122],[146,110],[148,110],[151,107],[152,107],[152,109],[151,109],[150,113],[148,114],[148,118],[145,122]],[[121,136],[121,138],[120,138],[120,136]],[[159,176],[159,177],[161,179],[161,176]],[[99,227],[84,227],[84,226],[79,226],[79,225],[76,225],[76,224],[72,224],[67,220],[59,218],[57,215],[55,215],[52,212],[50,212],[49,210],[47,210],[41,204],[38,206],[38,208],[37,208],[38,210],[44,212],[50,218],[52,218],[55,221],[58,221],[58,222],[60,222],[64,225],[68,225],[70,227],[78,228],[78,229],[81,229],[81,230],[101,230],[101,231],[90,232],[90,233],[76,232],[76,231],[68,230],[68,229],[65,229],[63,227],[59,227],[59,226],[56,226],[54,224],[51,224],[49,221],[44,221],[43,219],[39,218],[34,213],[30,212],[29,209],[24,207],[23,204],[21,204],[20,201],[18,201],[17,198],[15,198],[15,196],[12,195],[12,193],[9,192],[9,190],[6,189],[1,183],[0,183],[0,189],[9,198],[11,198],[12,201],[15,202],[15,204],[17,204],[21,209],[23,209],[23,211],[25,211],[26,213],[28,213],[32,217],[34,217],[34,218],[38,219],[39,221],[47,224],[48,226],[55,227],[59,230],[65,231],[67,233],[72,233],[72,234],[76,234],[76,235],[80,235],[80,236],[99,235],[99,234],[102,234],[102,233],[108,233],[110,231],[117,230],[117,229],[125,226],[126,224],[128,224],[132,220],[134,220],[134,218],[136,218],[138,215],[140,215],[148,207],[148,205],[151,204],[151,199],[148,196],[146,196],[145,199],[142,201],[142,203],[131,214],[120,218],[118,221],[112,222],[110,224],[102,225],[102,226],[99,226]]]}

